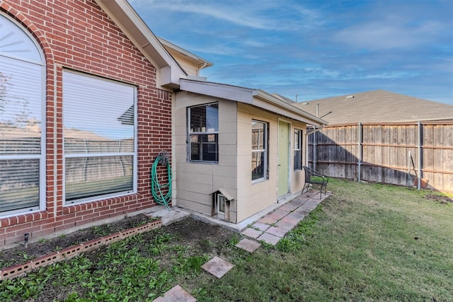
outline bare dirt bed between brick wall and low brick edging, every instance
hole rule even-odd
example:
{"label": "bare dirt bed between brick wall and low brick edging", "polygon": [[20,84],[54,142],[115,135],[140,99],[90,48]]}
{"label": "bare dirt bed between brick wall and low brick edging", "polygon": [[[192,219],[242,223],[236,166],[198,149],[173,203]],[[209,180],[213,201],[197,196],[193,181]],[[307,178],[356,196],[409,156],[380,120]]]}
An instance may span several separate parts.
{"label": "bare dirt bed between brick wall and low brick edging", "polygon": [[107,236],[111,233],[124,231],[127,230],[127,228],[140,226],[152,220],[154,220],[154,218],[145,214],[138,214],[113,223],[106,223],[101,226],[91,226],[90,228],[84,228],[80,231],[64,234],[55,238],[29,243],[27,248],[25,248],[25,245],[21,244],[16,245],[13,248],[0,250],[0,269],[33,260],[37,257],[47,255],[50,252],[69,248],[72,245]]}

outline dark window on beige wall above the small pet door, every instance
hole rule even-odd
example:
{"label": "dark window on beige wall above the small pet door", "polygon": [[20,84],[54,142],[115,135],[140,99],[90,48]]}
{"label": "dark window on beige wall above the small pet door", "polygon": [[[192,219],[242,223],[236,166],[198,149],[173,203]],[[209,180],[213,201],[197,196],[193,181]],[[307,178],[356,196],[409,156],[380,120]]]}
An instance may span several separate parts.
{"label": "dark window on beige wall above the small pet door", "polygon": [[219,161],[219,104],[188,108],[189,161]]}

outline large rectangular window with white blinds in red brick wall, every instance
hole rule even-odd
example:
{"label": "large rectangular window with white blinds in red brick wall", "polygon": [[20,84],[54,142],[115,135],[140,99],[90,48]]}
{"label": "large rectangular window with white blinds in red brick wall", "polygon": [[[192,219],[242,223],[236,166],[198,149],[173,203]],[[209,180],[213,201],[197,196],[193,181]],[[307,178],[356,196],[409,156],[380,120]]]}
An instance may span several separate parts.
{"label": "large rectangular window with white blinds in red brick wall", "polygon": [[63,73],[66,204],[137,190],[136,89]]}

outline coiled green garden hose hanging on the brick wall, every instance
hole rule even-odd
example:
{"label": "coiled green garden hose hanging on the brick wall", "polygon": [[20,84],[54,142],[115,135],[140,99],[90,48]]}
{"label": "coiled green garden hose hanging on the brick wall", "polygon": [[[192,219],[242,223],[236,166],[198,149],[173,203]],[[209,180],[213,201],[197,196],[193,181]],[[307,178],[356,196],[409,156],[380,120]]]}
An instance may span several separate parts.
{"label": "coiled green garden hose hanging on the brick wall", "polygon": [[[157,166],[159,163],[163,165],[167,165],[167,173],[168,173],[168,182],[166,184],[160,184],[159,178],[157,178]],[[168,202],[171,201],[171,166],[170,166],[170,157],[168,156],[168,152],[163,150],[160,151],[157,155],[154,163],[151,167],[151,192],[153,194],[154,200],[158,204],[165,204],[168,211],[170,211],[170,207],[168,207]],[[163,191],[168,190],[166,194]]]}

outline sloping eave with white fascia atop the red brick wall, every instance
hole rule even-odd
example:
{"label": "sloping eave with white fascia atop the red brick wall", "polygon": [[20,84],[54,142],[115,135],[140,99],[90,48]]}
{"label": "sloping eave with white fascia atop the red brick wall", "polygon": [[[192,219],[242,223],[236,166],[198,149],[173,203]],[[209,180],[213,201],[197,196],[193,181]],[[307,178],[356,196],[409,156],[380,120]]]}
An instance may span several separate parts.
{"label": "sloping eave with white fascia atop the red brick wall", "polygon": [[157,69],[158,85],[178,88],[187,76],[171,54],[126,0],[95,0],[134,45]]}

